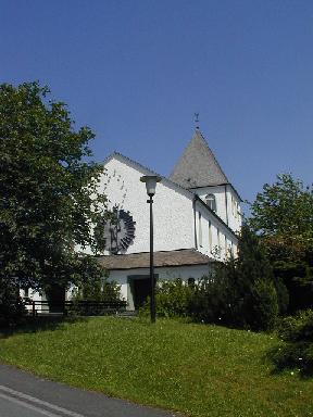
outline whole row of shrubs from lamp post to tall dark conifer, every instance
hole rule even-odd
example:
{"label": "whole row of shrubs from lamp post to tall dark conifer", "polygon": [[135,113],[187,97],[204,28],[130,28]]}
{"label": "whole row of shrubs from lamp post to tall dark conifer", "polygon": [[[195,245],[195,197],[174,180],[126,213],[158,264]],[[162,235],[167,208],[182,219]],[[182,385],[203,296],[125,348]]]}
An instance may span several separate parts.
{"label": "whole row of shrubs from lamp post to tall dark conifer", "polygon": [[[274,327],[279,302],[286,308],[286,288],[280,281],[275,283],[263,244],[247,225],[237,258],[215,263],[212,274],[192,287],[175,279],[159,281],[155,289],[159,317],[188,316],[195,321],[253,330]],[[141,314],[149,313],[149,303],[145,303]]]}

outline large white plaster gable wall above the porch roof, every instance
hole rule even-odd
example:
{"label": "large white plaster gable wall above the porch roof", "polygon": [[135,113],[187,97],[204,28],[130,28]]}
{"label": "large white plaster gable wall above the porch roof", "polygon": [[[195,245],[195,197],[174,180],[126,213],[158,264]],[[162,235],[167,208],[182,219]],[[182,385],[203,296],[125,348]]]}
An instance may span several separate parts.
{"label": "large white plaster gable wall above the porch roof", "polygon": [[[149,204],[142,175],[151,175],[113,156],[104,164],[99,191],[108,195],[109,208],[118,204],[129,211],[136,222],[133,244],[123,253],[149,252]],[[175,186],[162,180],[153,198],[154,251],[195,248],[192,194],[177,192]]]}

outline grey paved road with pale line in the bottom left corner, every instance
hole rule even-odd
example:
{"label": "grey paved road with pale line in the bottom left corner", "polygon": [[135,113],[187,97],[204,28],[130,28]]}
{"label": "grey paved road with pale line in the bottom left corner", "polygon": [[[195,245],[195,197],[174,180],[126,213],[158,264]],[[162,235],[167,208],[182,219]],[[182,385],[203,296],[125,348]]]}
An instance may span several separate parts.
{"label": "grey paved road with pale line in the bottom left corner", "polygon": [[[70,388],[0,364],[0,417],[171,417],[175,414]],[[177,415],[175,415],[177,416]]]}

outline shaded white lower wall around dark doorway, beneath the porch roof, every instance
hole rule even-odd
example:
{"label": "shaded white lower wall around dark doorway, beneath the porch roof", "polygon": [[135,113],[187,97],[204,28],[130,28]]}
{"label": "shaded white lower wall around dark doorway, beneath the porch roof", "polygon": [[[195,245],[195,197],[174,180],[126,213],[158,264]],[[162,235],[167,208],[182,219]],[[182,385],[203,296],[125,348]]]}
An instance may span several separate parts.
{"label": "shaded white lower wall around dark doorway, beneath the porch roof", "polygon": [[[208,276],[210,270],[210,265],[154,267],[154,274],[158,275],[159,280],[171,280],[175,278],[180,278],[184,281],[188,281],[188,278],[195,278],[198,280],[203,276]],[[128,309],[134,309],[134,304],[127,277],[134,275],[149,276],[149,268],[112,270],[110,273],[109,279],[117,282],[121,286],[121,298],[128,302]]]}

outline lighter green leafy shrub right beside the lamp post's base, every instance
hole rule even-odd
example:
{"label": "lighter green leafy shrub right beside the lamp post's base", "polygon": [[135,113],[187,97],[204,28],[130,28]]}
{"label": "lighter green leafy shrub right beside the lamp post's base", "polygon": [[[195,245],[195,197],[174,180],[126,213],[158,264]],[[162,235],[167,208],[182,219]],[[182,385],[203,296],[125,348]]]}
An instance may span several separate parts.
{"label": "lighter green leafy shrub right beside the lamp post's base", "polygon": [[[155,309],[159,317],[186,317],[192,287],[180,278],[158,281],[155,286]],[[150,312],[150,298],[140,308],[140,315]]]}

